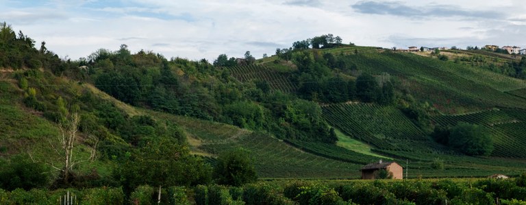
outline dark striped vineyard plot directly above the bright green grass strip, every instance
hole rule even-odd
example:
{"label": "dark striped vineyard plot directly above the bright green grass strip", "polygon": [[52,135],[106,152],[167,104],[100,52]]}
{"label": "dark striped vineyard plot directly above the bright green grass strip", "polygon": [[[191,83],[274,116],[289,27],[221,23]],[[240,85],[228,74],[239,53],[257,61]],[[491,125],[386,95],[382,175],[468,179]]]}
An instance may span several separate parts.
{"label": "dark striped vineyard plot directly above the bright green grass strip", "polygon": [[398,109],[375,104],[323,106],[323,117],[345,134],[377,149],[408,152],[449,152],[434,143]]}

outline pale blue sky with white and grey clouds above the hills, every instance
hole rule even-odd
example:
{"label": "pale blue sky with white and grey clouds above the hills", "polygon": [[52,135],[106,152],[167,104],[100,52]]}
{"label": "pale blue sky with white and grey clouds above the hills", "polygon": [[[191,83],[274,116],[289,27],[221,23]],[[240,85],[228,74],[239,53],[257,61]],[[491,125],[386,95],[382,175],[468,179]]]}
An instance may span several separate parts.
{"label": "pale blue sky with white and grey clouds above the hills", "polygon": [[255,58],[334,34],[375,47],[526,48],[524,0],[0,0],[0,22],[62,58],[127,45],[166,58]]}

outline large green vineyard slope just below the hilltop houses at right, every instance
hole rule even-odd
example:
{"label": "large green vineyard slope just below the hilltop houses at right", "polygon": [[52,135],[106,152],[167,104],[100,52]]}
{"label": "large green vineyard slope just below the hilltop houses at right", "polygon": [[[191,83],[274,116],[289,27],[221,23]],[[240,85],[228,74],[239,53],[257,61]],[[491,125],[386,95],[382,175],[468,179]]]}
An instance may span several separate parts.
{"label": "large green vineyard slope just below the hilltop houses at right", "polygon": [[412,53],[367,52],[346,58],[364,72],[386,72],[399,78],[416,99],[444,113],[496,106],[526,109],[525,98],[503,92],[525,88],[524,80]]}

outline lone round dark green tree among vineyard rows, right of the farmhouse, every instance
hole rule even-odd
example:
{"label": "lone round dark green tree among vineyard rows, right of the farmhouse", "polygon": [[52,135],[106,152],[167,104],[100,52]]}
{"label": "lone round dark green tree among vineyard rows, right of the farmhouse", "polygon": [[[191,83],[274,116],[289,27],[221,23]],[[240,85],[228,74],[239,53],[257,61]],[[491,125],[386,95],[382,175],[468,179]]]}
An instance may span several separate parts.
{"label": "lone round dark green tree among vineyard rows, right of the farmhouse", "polygon": [[493,151],[493,139],[487,128],[460,122],[448,138],[449,145],[468,155],[488,156]]}

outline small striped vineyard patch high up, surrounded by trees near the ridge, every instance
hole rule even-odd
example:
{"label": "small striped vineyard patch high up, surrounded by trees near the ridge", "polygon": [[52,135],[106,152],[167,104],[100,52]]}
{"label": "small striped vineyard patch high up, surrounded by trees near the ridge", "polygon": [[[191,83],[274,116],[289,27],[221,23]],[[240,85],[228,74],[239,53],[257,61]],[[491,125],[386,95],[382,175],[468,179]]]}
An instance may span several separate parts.
{"label": "small striped vineyard patch high up, surrounded by trees near the ridge", "polygon": [[269,69],[265,65],[245,65],[230,67],[231,75],[240,82],[250,82],[252,80],[264,80],[271,86],[272,91],[293,93],[298,86],[291,82],[288,73],[280,73]]}

